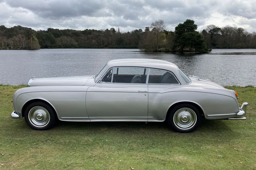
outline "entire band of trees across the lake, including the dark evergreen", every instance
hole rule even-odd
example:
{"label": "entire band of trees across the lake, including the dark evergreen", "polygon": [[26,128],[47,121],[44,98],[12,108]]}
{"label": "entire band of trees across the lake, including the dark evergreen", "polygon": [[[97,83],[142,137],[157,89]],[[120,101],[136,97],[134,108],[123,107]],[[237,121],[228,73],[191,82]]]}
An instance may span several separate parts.
{"label": "entire band of trees across the lake, including the dark evergreen", "polygon": [[54,29],[35,31],[31,28],[0,26],[0,49],[40,48],[141,48],[145,51],[200,51],[209,48],[256,48],[256,33],[243,28],[209,25],[197,32],[197,25],[187,19],[175,27],[165,28],[163,20],[151,26],[119,33],[115,28],[106,30]]}

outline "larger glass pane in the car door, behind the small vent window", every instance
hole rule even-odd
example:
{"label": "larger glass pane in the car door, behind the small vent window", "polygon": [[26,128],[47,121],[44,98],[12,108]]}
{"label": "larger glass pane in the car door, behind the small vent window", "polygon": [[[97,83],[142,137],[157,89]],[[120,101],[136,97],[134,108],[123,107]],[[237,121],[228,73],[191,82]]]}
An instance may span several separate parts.
{"label": "larger glass pane in the car door, behind the small vent window", "polygon": [[148,68],[116,67],[113,83],[144,83],[146,84]]}

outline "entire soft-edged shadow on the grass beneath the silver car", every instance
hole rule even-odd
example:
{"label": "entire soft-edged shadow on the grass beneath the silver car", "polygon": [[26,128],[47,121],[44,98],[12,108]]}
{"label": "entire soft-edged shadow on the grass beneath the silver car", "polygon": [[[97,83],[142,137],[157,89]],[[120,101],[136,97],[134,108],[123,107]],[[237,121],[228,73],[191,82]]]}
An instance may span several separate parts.
{"label": "entire soft-edged shadow on the grass beneath the silver car", "polygon": [[[22,124],[22,125],[21,125]],[[236,124],[223,120],[206,120],[202,119],[201,125],[194,132],[178,133],[169,128],[165,122],[64,122],[58,121],[57,124],[49,130],[33,130],[26,125],[25,121],[16,122],[14,125],[22,128],[16,137],[31,135],[35,138],[44,140],[44,137],[57,139],[81,140],[83,137],[94,138],[96,141],[102,138],[113,138],[115,141],[120,140],[138,140],[138,141],[176,141],[190,143],[203,143],[216,145],[217,143],[230,143],[230,141],[241,138],[242,134],[238,133],[234,127]],[[9,134],[11,135],[11,133]],[[14,134],[13,134],[14,135]],[[12,135],[11,135],[12,136]],[[130,139],[131,138],[131,139]]]}

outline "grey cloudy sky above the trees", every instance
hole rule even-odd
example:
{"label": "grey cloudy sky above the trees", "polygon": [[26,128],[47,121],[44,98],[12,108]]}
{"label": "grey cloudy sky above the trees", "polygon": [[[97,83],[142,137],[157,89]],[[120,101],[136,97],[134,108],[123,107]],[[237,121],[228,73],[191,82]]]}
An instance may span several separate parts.
{"label": "grey cloudy sky above the trees", "polygon": [[145,29],[163,19],[166,29],[192,19],[198,31],[207,25],[256,31],[256,0],[0,0],[0,25],[35,30]]}

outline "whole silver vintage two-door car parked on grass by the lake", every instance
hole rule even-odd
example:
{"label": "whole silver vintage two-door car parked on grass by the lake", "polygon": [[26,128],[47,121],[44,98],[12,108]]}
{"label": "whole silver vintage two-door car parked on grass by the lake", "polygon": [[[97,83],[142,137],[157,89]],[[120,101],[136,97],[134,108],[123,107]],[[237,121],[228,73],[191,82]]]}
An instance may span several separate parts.
{"label": "whole silver vintage two-door car parked on grass by the lake", "polygon": [[95,76],[32,78],[13,95],[12,118],[32,129],[61,121],[168,121],[192,132],[205,119],[245,119],[237,93],[195,76],[175,64],[153,59],[109,61]]}

